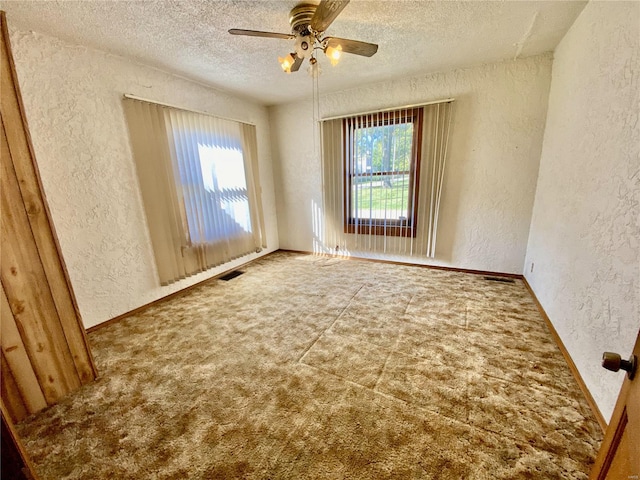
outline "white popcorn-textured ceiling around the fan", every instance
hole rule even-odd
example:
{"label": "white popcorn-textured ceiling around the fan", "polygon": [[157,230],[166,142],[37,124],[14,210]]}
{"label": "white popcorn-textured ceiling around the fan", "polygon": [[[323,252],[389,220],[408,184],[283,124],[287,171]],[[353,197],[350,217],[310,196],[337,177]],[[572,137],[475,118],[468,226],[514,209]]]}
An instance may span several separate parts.
{"label": "white popcorn-textured ceiling around the fan", "polygon": [[[292,40],[239,37],[229,28],[289,33],[295,0],[3,1],[12,28],[178,73],[266,105],[310,97],[307,62],[287,75]],[[317,2],[316,2],[317,3]],[[371,58],[319,60],[321,92],[551,51],[586,2],[352,0],[331,36],[379,44]]]}

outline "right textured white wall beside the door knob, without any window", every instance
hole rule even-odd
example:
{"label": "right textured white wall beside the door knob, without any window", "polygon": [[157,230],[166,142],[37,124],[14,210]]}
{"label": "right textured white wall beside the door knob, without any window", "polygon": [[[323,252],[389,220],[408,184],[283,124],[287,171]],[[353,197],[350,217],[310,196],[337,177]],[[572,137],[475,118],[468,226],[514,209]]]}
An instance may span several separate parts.
{"label": "right textured white wall beside the door knob, without any window", "polygon": [[640,327],[639,42],[640,3],[589,2],[558,46],[525,264],[605,419],[601,354]]}

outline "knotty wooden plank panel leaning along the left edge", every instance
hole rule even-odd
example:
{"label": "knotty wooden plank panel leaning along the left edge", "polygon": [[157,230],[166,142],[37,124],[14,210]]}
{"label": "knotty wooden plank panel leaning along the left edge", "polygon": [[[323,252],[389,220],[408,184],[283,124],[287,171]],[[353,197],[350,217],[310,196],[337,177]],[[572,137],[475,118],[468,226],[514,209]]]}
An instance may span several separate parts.
{"label": "knotty wooden plank panel leaning along the left edge", "polygon": [[21,420],[96,372],[42,191],[4,12],[0,36],[2,394]]}

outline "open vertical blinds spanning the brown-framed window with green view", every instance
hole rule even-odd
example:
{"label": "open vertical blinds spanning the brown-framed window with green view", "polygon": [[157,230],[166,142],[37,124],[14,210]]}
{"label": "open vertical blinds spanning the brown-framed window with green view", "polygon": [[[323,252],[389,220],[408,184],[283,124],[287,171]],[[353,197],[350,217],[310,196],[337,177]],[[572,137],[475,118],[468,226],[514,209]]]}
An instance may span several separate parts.
{"label": "open vertical blinds spanning the brown-framed window with green view", "polygon": [[452,106],[322,122],[326,251],[435,257]]}

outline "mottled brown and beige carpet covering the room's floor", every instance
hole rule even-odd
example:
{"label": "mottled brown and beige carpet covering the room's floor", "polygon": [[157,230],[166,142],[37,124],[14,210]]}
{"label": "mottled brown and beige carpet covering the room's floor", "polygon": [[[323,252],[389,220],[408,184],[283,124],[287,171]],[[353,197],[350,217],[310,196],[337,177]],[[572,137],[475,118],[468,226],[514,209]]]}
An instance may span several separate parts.
{"label": "mottled brown and beige carpet covering the room's floor", "polygon": [[43,479],[586,479],[601,431],[523,284],[279,252],[90,334],[18,426]]}

